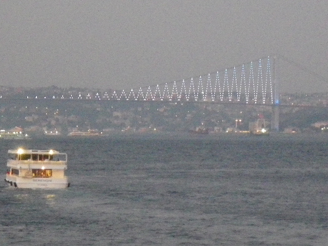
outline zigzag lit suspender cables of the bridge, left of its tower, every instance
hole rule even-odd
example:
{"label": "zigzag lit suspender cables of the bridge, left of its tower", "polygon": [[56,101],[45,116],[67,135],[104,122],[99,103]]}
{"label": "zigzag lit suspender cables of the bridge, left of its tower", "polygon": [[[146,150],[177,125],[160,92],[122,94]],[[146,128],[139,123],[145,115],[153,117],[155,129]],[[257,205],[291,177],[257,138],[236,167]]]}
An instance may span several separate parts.
{"label": "zigzag lit suspender cables of the bridge, left of its tower", "polygon": [[[116,101],[210,101],[218,103],[273,104],[271,57],[197,78],[111,93],[94,92],[52,96],[50,99]],[[37,98],[29,97],[28,98]],[[45,98],[44,98],[45,99]]]}

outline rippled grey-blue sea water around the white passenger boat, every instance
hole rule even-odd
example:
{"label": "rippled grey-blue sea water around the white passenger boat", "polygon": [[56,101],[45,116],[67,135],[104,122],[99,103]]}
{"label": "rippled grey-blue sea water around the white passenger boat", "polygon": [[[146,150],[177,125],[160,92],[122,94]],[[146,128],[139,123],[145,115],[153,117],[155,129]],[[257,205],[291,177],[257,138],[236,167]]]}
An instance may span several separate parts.
{"label": "rippled grey-blue sea water around the white passenger boat", "polygon": [[[70,187],[4,181],[9,149],[68,154]],[[0,245],[328,245],[328,135],[0,142]]]}

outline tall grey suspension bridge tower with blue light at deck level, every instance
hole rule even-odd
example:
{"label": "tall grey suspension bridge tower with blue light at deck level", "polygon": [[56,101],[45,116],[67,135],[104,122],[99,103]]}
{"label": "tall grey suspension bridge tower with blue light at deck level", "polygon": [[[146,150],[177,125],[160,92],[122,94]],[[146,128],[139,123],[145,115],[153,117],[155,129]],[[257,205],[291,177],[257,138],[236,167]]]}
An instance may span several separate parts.
{"label": "tall grey suspension bridge tower with blue light at deck level", "polygon": [[278,63],[277,56],[273,57],[273,85],[274,85],[274,102],[272,106],[272,116],[271,116],[271,130],[279,131],[279,77],[278,77]]}

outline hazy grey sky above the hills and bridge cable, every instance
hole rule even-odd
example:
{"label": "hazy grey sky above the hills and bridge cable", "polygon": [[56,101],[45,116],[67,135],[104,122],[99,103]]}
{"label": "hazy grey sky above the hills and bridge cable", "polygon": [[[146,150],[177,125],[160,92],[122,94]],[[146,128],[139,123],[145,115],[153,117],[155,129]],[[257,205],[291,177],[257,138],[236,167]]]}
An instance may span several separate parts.
{"label": "hazy grey sky above the hills and bridge cable", "polygon": [[326,0],[3,0],[0,36],[2,86],[131,89],[278,53],[301,65],[278,60],[282,90],[328,91]]}

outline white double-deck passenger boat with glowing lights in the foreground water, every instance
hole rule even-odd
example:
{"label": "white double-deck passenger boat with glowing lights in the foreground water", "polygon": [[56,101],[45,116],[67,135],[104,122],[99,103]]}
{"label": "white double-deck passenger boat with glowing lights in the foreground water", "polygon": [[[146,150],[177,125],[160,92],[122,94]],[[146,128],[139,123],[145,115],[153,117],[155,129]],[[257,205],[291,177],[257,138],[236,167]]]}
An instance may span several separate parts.
{"label": "white double-deck passenger boat with glowing lights in the foreground water", "polygon": [[17,188],[64,189],[70,186],[67,154],[55,150],[8,150],[5,181]]}

